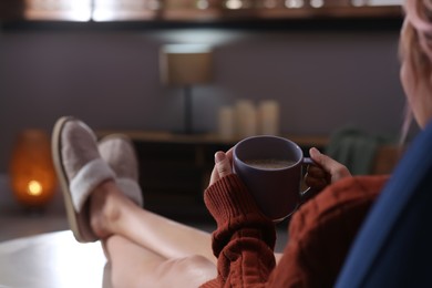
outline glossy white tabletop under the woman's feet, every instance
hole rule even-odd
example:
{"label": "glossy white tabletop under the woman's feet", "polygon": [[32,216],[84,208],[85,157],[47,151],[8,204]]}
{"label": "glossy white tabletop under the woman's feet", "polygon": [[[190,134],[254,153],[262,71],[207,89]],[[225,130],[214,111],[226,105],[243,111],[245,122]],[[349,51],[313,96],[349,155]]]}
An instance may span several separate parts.
{"label": "glossy white tabletop under the woman's feet", "polygon": [[0,244],[0,287],[111,287],[100,243],[80,244],[55,232]]}

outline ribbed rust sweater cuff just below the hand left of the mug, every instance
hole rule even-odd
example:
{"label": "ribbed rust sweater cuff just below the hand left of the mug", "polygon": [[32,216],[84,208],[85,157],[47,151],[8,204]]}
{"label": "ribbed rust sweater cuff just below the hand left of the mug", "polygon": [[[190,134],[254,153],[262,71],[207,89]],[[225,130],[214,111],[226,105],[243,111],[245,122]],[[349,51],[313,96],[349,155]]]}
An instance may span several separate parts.
{"label": "ribbed rust sweater cuff just below the hand left of the mug", "polygon": [[255,199],[236,174],[230,174],[209,186],[204,202],[218,225],[238,216],[261,215]]}

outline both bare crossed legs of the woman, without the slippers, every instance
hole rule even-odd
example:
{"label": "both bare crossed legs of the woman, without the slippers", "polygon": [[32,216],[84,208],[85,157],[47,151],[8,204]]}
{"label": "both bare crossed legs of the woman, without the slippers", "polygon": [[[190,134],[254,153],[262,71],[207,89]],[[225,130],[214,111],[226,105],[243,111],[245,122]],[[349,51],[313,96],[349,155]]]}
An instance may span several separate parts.
{"label": "both bare crossed legs of the woman, without the slippers", "polygon": [[198,287],[216,277],[209,234],[142,209],[112,181],[92,193],[90,222],[114,287]]}

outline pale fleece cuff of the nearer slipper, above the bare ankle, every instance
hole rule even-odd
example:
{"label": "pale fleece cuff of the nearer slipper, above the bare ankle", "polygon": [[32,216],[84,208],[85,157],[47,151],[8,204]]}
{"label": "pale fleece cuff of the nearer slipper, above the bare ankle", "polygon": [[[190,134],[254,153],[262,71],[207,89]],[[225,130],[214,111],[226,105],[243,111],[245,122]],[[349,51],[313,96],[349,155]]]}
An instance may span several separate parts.
{"label": "pale fleece cuff of the nearer slipper, above the bare ankle", "polygon": [[85,164],[70,183],[73,207],[80,213],[90,193],[106,179],[114,179],[115,174],[102,160],[95,158]]}

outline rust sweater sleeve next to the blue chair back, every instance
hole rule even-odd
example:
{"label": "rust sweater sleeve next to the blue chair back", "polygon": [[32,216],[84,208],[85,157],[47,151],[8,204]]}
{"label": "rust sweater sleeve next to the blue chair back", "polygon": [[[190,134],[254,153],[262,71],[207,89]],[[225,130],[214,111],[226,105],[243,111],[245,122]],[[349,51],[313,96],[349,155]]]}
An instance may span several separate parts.
{"label": "rust sweater sleeve next to the blue chair back", "polygon": [[387,181],[388,176],[341,179],[296,212],[269,287],[333,287],[359,227]]}

